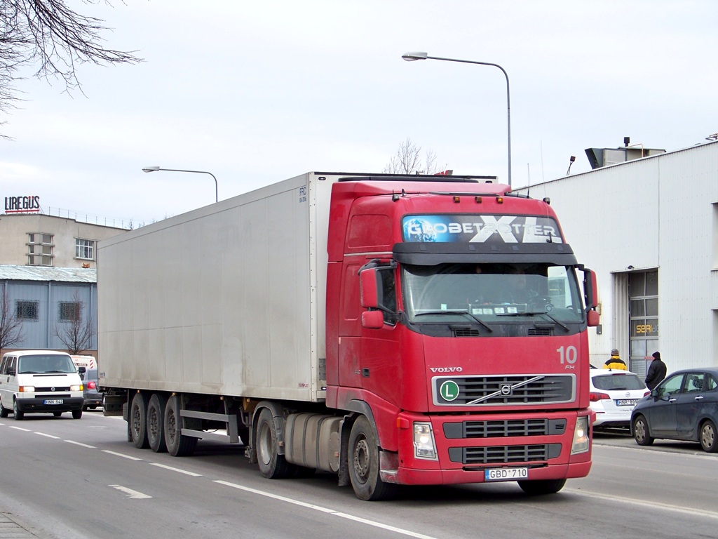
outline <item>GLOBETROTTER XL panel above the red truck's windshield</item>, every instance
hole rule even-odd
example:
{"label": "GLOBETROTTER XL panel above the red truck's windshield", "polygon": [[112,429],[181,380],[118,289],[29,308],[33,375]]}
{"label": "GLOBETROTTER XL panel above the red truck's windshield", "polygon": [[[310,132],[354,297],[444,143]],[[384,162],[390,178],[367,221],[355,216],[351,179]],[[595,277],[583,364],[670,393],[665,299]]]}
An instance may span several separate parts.
{"label": "GLOBETROTTER XL panel above the red truck's windshield", "polygon": [[414,215],[404,217],[404,241],[561,243],[551,217],[513,215]]}

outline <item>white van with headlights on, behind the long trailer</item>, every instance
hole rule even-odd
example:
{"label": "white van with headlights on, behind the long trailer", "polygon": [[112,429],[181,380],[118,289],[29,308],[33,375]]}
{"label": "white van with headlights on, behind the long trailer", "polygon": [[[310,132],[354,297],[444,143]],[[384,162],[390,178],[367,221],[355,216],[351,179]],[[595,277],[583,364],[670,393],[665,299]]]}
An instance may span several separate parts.
{"label": "white van with headlights on, behind the long trailer", "polygon": [[0,362],[0,418],[10,413],[21,420],[26,413],[72,412],[83,416],[83,382],[70,354],[51,350],[7,352]]}

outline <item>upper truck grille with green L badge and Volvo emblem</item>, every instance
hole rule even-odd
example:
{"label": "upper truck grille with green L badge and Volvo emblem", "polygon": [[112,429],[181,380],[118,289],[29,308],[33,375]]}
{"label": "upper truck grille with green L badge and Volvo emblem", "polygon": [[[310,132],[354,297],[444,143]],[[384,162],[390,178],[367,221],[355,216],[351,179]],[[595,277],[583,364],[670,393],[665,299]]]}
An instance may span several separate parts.
{"label": "upper truck grille with green L badge and Volvo emblem", "polygon": [[434,377],[434,405],[516,406],[559,404],[576,398],[574,374]]}

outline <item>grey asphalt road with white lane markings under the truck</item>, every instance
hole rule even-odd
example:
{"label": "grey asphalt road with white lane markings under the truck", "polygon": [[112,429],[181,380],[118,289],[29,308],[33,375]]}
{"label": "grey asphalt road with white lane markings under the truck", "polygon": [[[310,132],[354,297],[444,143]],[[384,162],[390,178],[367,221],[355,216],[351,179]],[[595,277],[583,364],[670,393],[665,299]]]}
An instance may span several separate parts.
{"label": "grey asphalt road with white lane markings under the truck", "polygon": [[2,419],[0,459],[0,538],[718,536],[718,455],[697,443],[640,448],[620,431],[597,433],[591,474],[548,497],[504,483],[360,502],[330,474],[268,481],[242,447],[211,438],[188,458],[136,449],[126,423],[101,411]]}

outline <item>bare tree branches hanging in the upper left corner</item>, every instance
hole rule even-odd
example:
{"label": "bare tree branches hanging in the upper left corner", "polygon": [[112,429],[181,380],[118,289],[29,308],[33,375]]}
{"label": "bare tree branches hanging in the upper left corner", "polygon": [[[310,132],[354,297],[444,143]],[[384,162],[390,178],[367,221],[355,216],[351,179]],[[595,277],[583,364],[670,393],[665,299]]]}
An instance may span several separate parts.
{"label": "bare tree branches hanging in the upper left corner", "polygon": [[[83,0],[99,4],[108,0]],[[79,88],[75,69],[83,63],[113,65],[137,63],[136,51],[103,47],[109,31],[102,19],[79,14],[66,0],[0,0],[0,111],[18,100],[13,83],[20,68],[37,66],[37,78],[57,78],[65,91]]]}

